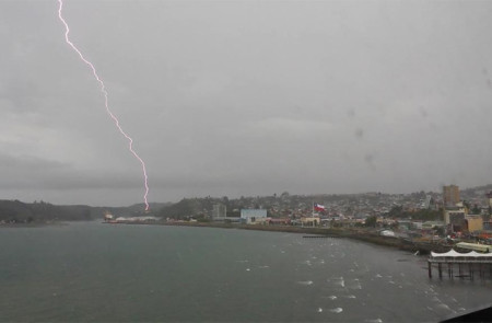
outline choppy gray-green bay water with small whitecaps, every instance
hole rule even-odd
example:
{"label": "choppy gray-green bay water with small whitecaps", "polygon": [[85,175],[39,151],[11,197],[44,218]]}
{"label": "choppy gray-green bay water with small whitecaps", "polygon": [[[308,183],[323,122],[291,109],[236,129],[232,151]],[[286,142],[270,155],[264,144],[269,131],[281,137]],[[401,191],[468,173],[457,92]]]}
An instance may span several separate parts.
{"label": "choppy gray-green bay water with small whitecaps", "polygon": [[492,282],[425,257],[301,234],[70,223],[0,229],[0,321],[436,322]]}

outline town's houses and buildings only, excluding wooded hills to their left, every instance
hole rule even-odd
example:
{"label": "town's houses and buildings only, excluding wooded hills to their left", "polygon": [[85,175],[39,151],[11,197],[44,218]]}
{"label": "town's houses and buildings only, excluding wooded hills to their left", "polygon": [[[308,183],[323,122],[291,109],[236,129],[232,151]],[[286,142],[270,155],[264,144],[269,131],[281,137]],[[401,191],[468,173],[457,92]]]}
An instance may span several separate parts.
{"label": "town's houses and buildings only, excluding wooded hills to their left", "polygon": [[[306,198],[292,203],[288,197],[256,200],[255,207],[235,210],[239,217],[227,217],[227,207],[218,203],[211,212],[212,221],[230,221],[247,224],[281,224],[301,227],[364,227],[390,229],[414,237],[492,237],[492,194],[467,196],[460,199],[459,187],[444,186],[438,193],[415,193],[410,195],[363,195],[327,198],[318,204]],[[487,197],[487,199],[485,199]],[[266,206],[261,205],[261,201]],[[267,201],[267,203],[266,203]],[[400,215],[396,217],[393,212]],[[412,219],[412,214],[433,211],[437,219]],[[405,214],[406,217],[401,217]]]}

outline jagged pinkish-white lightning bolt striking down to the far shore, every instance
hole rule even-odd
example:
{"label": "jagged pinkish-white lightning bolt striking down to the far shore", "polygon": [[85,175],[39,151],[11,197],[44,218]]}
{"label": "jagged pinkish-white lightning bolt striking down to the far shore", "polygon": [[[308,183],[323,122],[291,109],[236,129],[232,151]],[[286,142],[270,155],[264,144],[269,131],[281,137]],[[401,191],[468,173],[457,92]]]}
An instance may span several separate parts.
{"label": "jagged pinkish-white lightning bolt striking down to the far shore", "polygon": [[109,109],[109,105],[108,105],[108,100],[107,100],[107,91],[106,91],[106,86],[104,85],[103,80],[99,78],[99,76],[96,72],[96,69],[94,67],[94,65],[92,65],[91,61],[89,61],[87,59],[84,58],[84,56],[82,55],[82,53],[79,50],[79,48],[75,47],[75,45],[73,45],[72,42],[70,42],[69,38],[69,33],[70,33],[70,28],[67,24],[67,22],[65,21],[63,16],[61,15],[61,9],[63,7],[63,1],[62,0],[58,0],[59,3],[59,8],[58,8],[58,18],[60,19],[60,21],[63,23],[65,25],[65,41],[67,42],[68,45],[70,45],[70,47],[72,47],[72,49],[79,55],[80,59],[85,62],[92,70],[92,73],[94,76],[94,78],[96,79],[96,81],[99,83],[101,85],[101,92],[104,95],[104,106],[106,107],[106,113],[109,115],[109,117],[113,119],[113,122],[115,123],[116,127],[118,128],[119,132],[127,138],[128,140],[128,149],[130,150],[130,152],[134,155],[134,158],[140,162],[141,166],[142,166],[142,172],[143,172],[143,184],[145,187],[145,193],[143,194],[143,200],[145,203],[145,211],[149,210],[149,201],[148,201],[148,195],[149,195],[149,177],[147,176],[147,168],[145,168],[145,162],[140,158],[140,155],[133,150],[133,139],[131,139],[130,136],[128,136],[127,132],[124,131],[124,129],[121,128],[121,126],[119,125],[119,120],[116,117],[116,115]]}

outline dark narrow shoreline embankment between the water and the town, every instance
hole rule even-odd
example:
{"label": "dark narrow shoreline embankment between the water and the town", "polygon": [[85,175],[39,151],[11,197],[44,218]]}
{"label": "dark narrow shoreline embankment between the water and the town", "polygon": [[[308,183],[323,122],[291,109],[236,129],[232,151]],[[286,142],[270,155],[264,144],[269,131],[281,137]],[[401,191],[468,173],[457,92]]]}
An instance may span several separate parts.
{"label": "dark narrow shoreline embankment between the water and the town", "polygon": [[271,232],[289,232],[309,234],[306,238],[347,238],[408,251],[412,253],[430,254],[432,252],[447,252],[452,246],[436,243],[410,241],[402,238],[383,237],[377,233],[361,228],[311,228],[294,226],[262,226],[262,224],[237,224],[220,222],[121,222],[125,224],[149,224],[149,226],[175,226],[175,227],[195,227],[195,228],[218,228],[218,229],[239,229]]}

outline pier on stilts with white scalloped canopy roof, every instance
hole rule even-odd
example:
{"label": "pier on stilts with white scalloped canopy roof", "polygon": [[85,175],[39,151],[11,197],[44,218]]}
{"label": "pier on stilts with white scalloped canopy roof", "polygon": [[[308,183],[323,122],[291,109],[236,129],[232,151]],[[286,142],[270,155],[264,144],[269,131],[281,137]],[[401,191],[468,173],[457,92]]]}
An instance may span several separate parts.
{"label": "pier on stilts with white scalloped canopy roof", "polygon": [[481,279],[492,278],[492,253],[458,253],[454,250],[447,253],[431,253],[427,259],[429,278],[432,278],[433,267],[437,268],[438,277],[447,273],[449,278],[475,279],[478,275]]}

